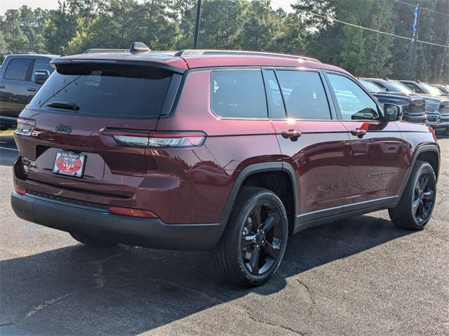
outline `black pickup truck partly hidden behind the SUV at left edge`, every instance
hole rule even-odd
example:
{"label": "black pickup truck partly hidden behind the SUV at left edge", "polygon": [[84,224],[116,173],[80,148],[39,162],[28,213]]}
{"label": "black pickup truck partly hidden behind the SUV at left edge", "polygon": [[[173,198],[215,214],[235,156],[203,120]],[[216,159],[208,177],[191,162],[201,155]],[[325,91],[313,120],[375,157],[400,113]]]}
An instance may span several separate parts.
{"label": "black pickup truck partly hidden behind the SUV at left edge", "polygon": [[14,126],[18,115],[54,68],[57,55],[7,55],[0,67],[0,128]]}

